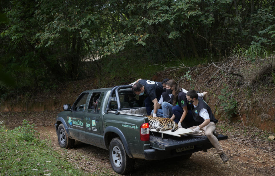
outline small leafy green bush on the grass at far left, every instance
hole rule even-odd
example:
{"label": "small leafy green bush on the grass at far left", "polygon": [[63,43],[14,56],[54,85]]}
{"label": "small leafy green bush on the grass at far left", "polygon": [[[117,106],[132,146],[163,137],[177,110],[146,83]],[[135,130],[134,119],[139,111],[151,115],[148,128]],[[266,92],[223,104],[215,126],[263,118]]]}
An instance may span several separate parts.
{"label": "small leafy green bush on the grass at far left", "polygon": [[15,131],[17,132],[17,136],[20,140],[25,140],[28,142],[37,142],[39,138],[39,134],[36,130],[34,130],[35,124],[30,124],[29,121],[23,120],[22,126],[15,127]]}

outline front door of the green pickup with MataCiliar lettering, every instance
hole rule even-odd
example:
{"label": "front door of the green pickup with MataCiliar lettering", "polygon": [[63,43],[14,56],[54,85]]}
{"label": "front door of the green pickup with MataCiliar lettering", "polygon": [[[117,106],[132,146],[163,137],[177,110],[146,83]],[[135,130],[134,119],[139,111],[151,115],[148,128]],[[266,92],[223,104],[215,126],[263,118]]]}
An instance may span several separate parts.
{"label": "front door of the green pickup with MataCiliar lettering", "polygon": [[72,106],[72,112],[68,113],[68,132],[72,138],[86,141],[84,128],[84,115],[86,101],[89,93],[82,93]]}

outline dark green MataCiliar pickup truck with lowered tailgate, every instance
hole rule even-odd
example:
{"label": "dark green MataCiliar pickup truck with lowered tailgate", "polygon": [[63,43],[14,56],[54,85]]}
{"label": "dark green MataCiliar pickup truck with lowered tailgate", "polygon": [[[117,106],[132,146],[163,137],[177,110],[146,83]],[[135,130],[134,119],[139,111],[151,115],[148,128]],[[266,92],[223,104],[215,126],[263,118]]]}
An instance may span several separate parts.
{"label": "dark green MataCiliar pickup truck with lowered tailgate", "polygon": [[[113,170],[129,173],[135,158],[160,160],[190,158],[213,145],[206,136],[170,136],[152,132],[144,108],[144,95],[134,95],[131,86],[87,90],[74,104],[63,105],[56,117],[59,145],[69,148],[75,140],[109,150]],[[144,113],[145,112],[145,113]],[[218,140],[227,136],[219,134]]]}

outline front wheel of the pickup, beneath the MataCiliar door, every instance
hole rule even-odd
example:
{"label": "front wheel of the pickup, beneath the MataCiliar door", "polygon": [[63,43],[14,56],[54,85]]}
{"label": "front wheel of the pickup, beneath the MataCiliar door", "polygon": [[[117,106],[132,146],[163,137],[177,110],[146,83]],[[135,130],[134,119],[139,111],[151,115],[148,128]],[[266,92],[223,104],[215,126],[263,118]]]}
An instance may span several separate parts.
{"label": "front wheel of the pickup, beneath the MataCiliar door", "polygon": [[62,148],[70,148],[74,146],[74,139],[69,138],[64,125],[61,123],[57,129],[57,138],[59,146]]}

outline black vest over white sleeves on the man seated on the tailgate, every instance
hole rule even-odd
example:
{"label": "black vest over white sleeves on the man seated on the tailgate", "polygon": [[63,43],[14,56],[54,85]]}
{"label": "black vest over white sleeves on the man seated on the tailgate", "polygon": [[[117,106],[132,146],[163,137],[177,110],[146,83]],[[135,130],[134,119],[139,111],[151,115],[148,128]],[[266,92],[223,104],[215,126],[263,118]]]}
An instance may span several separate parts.
{"label": "black vest over white sleeves on the man seated on the tailgate", "polygon": [[210,122],[214,122],[217,123],[217,119],[215,119],[211,108],[207,105],[207,103],[205,101],[203,101],[203,99],[201,99],[200,97],[198,97],[199,100],[199,105],[197,107],[195,107],[194,109],[192,109],[192,113],[193,113],[193,118],[195,120],[195,122],[197,123],[197,125],[201,125],[204,122],[203,117],[200,117],[200,111],[201,109],[205,108],[207,109],[207,112],[209,114],[209,118],[210,118]]}

